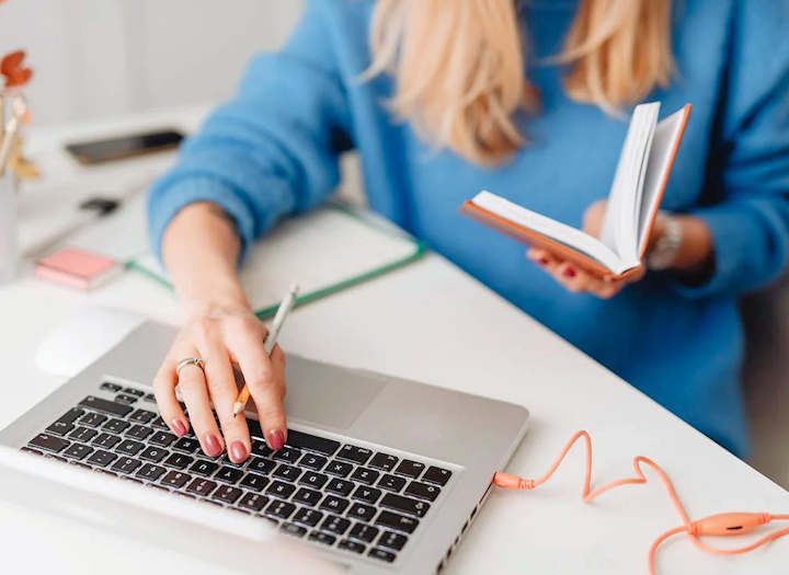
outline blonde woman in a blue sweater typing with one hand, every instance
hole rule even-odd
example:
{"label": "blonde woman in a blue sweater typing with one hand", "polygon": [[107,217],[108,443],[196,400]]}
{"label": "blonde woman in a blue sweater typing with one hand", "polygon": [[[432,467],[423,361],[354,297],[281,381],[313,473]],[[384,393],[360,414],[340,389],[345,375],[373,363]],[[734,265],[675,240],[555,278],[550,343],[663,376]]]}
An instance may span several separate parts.
{"label": "blonde woman in a blue sweater typing with one hand", "polygon": [[[192,426],[209,456],[245,459],[232,360],[283,446],[285,358],[264,354],[236,264],[279,218],[320,204],[354,148],[373,209],[744,453],[736,297],[787,260],[788,16],[776,0],[308,2],[151,189],[152,240],[188,317],[156,381],[165,421]],[[627,114],[651,100],[694,114],[639,280],[524,257],[458,214],[489,188],[594,231]],[[191,357],[204,370],[179,380]]]}

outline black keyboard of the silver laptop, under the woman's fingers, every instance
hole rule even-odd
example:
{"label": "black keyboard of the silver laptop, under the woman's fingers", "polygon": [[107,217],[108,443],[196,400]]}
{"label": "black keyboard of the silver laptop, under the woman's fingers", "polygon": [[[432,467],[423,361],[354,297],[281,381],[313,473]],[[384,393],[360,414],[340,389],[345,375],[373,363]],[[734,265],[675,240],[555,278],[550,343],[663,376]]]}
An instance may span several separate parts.
{"label": "black keyboard of the silver laptop, under the woman's fingers", "polygon": [[152,488],[260,516],[288,534],[391,563],[451,478],[451,471],[295,429],[268,448],[249,419],[252,453],[237,464],[209,458],[190,430],[172,434],[156,399],[101,384],[23,447]]}

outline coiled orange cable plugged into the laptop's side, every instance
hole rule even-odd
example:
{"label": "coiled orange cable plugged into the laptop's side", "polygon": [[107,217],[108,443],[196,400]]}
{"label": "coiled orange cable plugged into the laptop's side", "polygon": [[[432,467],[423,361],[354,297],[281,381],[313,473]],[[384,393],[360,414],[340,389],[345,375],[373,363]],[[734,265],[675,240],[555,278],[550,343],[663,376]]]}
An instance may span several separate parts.
{"label": "coiled orange cable plugged into the laptop's side", "polygon": [[584,476],[584,485],[583,485],[583,492],[581,494],[582,501],[584,503],[588,503],[595,497],[604,494],[605,492],[613,490],[615,487],[619,487],[621,485],[638,485],[647,483],[647,476],[643,474],[643,470],[641,469],[641,464],[645,464],[651,467],[656,473],[658,476],[663,481],[663,483],[666,486],[666,491],[668,492],[668,497],[671,498],[672,503],[674,504],[674,507],[676,507],[677,511],[679,513],[679,517],[682,518],[683,525],[675,527],[673,529],[667,530],[666,532],[662,533],[658,539],[654,540],[652,545],[649,550],[649,557],[648,557],[648,567],[650,575],[655,575],[655,555],[658,553],[658,548],[668,538],[677,534],[677,533],[687,533],[687,536],[690,538],[690,541],[696,545],[699,550],[711,553],[714,555],[739,555],[742,553],[747,553],[748,551],[753,551],[754,549],[757,549],[766,543],[769,543],[770,541],[775,541],[776,539],[784,537],[786,534],[789,534],[789,527],[779,529],[777,531],[774,531],[771,533],[766,534],[762,539],[758,539],[757,541],[745,545],[741,548],[734,548],[734,549],[718,549],[708,545],[704,541],[701,541],[700,537],[731,537],[731,536],[737,536],[741,533],[748,532],[756,527],[761,525],[766,525],[770,521],[775,520],[789,520],[789,514],[787,515],[770,515],[767,513],[729,513],[729,514],[719,514],[719,515],[711,515],[709,517],[705,517],[702,519],[697,519],[696,521],[691,521],[687,513],[685,511],[685,507],[683,506],[682,502],[679,501],[679,496],[676,494],[676,491],[674,490],[674,484],[672,483],[671,479],[668,479],[668,475],[666,474],[663,469],[652,461],[649,458],[638,456],[633,458],[633,469],[636,470],[636,476],[634,478],[626,478],[613,481],[606,485],[603,485],[602,487],[596,488],[593,492],[590,492],[591,483],[592,483],[592,438],[590,437],[588,433],[581,430],[578,432],[575,435],[572,436],[572,438],[567,442],[564,446],[564,449],[562,449],[561,453],[559,453],[559,457],[557,457],[556,461],[553,461],[553,464],[548,469],[548,471],[539,479],[533,480],[533,479],[524,479],[518,478],[517,475],[512,475],[510,473],[504,472],[496,472],[493,476],[493,483],[498,485],[499,487],[510,488],[510,490],[534,490],[536,487],[539,487],[542,485],[546,481],[548,481],[551,475],[556,472],[556,470],[559,468],[561,462],[564,460],[564,457],[568,455],[568,451],[573,447],[573,445],[582,438],[584,439],[584,442],[586,445],[586,472]]}

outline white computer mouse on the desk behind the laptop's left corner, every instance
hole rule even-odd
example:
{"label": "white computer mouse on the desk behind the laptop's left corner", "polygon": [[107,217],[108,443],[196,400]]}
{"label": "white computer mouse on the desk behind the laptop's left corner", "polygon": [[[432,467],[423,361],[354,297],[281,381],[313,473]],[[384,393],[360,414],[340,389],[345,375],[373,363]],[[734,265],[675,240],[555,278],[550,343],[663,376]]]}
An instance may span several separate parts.
{"label": "white computer mouse on the desk behind the laptop's left corner", "polygon": [[79,308],[42,340],[36,365],[53,376],[73,377],[144,321],[145,315],[126,310]]}

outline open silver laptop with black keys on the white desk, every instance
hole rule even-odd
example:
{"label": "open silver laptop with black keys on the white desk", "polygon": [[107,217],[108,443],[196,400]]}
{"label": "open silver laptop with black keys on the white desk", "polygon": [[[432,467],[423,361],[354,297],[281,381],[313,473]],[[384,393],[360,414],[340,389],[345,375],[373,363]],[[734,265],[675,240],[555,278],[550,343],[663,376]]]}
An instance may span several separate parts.
{"label": "open silver laptop with black keys on the white desk", "polygon": [[[290,355],[287,445],[271,450],[248,411],[251,457],[242,464],[209,458],[191,433],[178,438],[169,432],[151,393],[174,333],[171,326],[141,324],[0,430],[0,446],[12,448],[18,459],[46,463],[39,471],[16,465],[18,478],[36,475],[18,481],[11,492],[18,503],[41,501],[34,490],[49,491],[47,482],[61,479],[57,475],[90,476],[96,481],[78,480],[67,490],[77,502],[70,508],[117,517],[118,505],[134,507],[121,529],[178,520],[157,519],[165,511],[161,502],[172,501],[175,515],[210,509],[211,517],[228,518],[227,526],[197,520],[178,531],[184,540],[201,541],[203,551],[209,538],[202,529],[224,531],[227,545],[260,525],[352,573],[432,573],[449,559],[493,473],[526,432],[528,412],[519,405]],[[0,452],[0,465],[2,460]],[[0,475],[12,476],[2,470]],[[99,485],[110,490],[91,497]],[[112,497],[113,486],[125,498]],[[129,496],[129,490],[151,493],[159,503],[140,508],[145,497]],[[58,501],[70,496],[60,494]]]}

